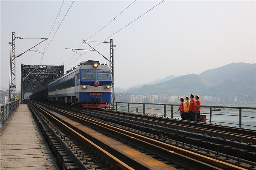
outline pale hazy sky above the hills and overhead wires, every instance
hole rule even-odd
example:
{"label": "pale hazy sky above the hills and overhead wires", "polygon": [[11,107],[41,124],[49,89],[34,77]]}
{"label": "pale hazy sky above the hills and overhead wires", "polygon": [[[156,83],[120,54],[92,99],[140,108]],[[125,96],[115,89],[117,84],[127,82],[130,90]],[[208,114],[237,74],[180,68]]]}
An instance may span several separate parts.
{"label": "pale hazy sky above the hills and overhead wires", "polygon": [[28,51],[16,59],[18,91],[21,63],[64,63],[65,72],[89,59],[109,64],[96,51],[65,49],[90,49],[82,40],[109,58],[109,44],[99,42],[113,39],[115,86],[120,88],[256,62],[255,0],[160,2],[1,0],[1,89],[9,89],[12,32],[24,38],[16,39],[16,56],[49,37],[36,46],[40,53]]}

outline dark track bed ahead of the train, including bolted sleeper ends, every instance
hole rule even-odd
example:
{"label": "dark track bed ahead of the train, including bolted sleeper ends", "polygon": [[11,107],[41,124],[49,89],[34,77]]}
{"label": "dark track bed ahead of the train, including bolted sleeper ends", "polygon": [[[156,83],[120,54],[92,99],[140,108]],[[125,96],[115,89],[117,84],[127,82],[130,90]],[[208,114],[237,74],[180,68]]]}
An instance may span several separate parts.
{"label": "dark track bed ahead of the train, including bolted sleeper ends", "polygon": [[[99,114],[98,111],[97,113],[95,113],[94,111],[86,112],[93,112],[90,113],[90,116]],[[180,125],[179,123],[183,122],[180,120],[172,120],[172,122],[175,123],[167,123],[166,120],[169,121],[168,119],[163,119],[163,121],[159,121],[162,119],[157,118],[156,121],[154,120],[154,116],[149,116],[150,119],[146,119],[148,116],[142,119],[140,117],[143,115],[137,114],[128,114],[129,116],[125,116],[123,115],[124,113],[106,113],[105,111],[99,112],[111,115],[111,118],[109,118],[108,121],[117,123],[117,120],[120,119],[119,125],[132,127],[134,129],[142,130],[156,136],[162,136],[160,140],[166,140],[167,138],[170,139],[170,142],[176,142],[177,145],[193,145],[194,148],[200,148],[201,150],[207,151],[207,153],[211,152],[217,155],[220,154],[223,157],[233,156],[233,159],[237,160],[241,158],[245,159],[244,161],[249,160],[251,161],[248,162],[249,164],[253,164],[253,162],[256,162],[256,138],[254,136],[256,130],[237,128],[238,133],[230,133],[230,128],[233,129],[233,127],[222,126],[223,130],[220,131],[214,130],[218,125],[203,124],[205,127],[201,128],[197,127],[198,124],[202,125],[202,123],[198,122],[190,122],[191,125],[187,126]],[[122,116],[119,116],[119,114],[121,114]],[[137,118],[137,116],[139,116],[139,118]],[[98,116],[98,119],[103,118]],[[195,125],[192,126],[192,124]],[[244,133],[246,134],[248,132],[251,133],[250,136],[244,135]]]}

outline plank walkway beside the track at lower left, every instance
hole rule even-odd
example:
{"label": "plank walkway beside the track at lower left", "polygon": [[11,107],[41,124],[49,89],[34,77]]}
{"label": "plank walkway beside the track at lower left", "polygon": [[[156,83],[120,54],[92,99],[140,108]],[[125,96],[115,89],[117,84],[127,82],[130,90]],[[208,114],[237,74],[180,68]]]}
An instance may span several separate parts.
{"label": "plank walkway beside the track at lower left", "polygon": [[59,170],[27,105],[19,105],[1,128],[1,170]]}

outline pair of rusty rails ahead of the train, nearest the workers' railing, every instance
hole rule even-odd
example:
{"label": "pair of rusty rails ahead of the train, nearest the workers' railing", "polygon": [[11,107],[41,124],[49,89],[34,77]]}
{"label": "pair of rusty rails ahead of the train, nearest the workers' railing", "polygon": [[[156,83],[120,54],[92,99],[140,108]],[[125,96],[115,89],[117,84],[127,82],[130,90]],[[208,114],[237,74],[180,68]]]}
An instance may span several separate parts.
{"label": "pair of rusty rails ahead of the train, nearest the workers' railing", "polygon": [[[90,110],[87,110],[90,111]],[[119,117],[127,117],[130,116],[129,119],[134,119],[136,121],[143,121],[152,124],[158,124],[162,126],[172,125],[177,129],[189,130],[194,131],[195,133],[207,133],[212,136],[219,136],[219,137],[226,137],[236,140],[238,142],[244,142],[252,144],[256,144],[256,130],[252,129],[243,129],[239,127],[229,127],[224,125],[214,125],[208,123],[201,123],[201,122],[192,122],[192,121],[184,121],[184,120],[177,120],[177,119],[169,119],[157,116],[148,116],[148,115],[141,115],[135,113],[125,113],[125,112],[117,112],[117,111],[97,111],[101,113],[111,114],[113,116]]]}

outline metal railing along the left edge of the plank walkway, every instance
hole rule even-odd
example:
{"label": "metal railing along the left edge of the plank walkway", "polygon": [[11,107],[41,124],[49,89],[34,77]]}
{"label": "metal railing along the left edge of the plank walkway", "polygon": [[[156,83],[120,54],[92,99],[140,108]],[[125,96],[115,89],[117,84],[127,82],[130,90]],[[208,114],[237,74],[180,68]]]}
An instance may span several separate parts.
{"label": "metal railing along the left edge of the plank walkway", "polygon": [[15,100],[12,102],[1,104],[1,114],[0,114],[0,128],[3,126],[4,122],[12,115],[20,100]]}

